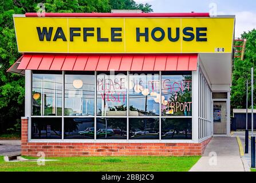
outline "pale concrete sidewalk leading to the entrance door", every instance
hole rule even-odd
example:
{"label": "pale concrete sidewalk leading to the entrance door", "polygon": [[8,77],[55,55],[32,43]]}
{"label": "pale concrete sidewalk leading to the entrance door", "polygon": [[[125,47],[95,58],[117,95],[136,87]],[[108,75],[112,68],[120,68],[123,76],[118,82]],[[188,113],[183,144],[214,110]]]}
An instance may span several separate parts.
{"label": "pale concrete sidewalk leading to the entrance door", "polygon": [[245,172],[236,137],[213,137],[190,172]]}

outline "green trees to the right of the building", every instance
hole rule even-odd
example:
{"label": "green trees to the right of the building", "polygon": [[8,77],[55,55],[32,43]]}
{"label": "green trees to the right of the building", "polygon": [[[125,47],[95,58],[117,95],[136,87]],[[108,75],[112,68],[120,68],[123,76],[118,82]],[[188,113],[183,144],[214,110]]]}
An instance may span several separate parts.
{"label": "green trees to the right of the building", "polygon": [[[251,98],[251,67],[256,69],[256,30],[253,29],[248,33],[243,33],[241,38],[247,39],[245,59],[241,61],[240,58],[234,59],[233,70],[233,83],[231,87],[231,108],[242,109],[246,108],[246,80],[249,81],[249,106]],[[254,71],[254,74],[255,71]],[[254,82],[254,89],[256,83]],[[256,92],[254,90],[254,97],[256,98]],[[255,101],[254,98],[254,101]],[[255,108],[255,105],[254,105]]]}

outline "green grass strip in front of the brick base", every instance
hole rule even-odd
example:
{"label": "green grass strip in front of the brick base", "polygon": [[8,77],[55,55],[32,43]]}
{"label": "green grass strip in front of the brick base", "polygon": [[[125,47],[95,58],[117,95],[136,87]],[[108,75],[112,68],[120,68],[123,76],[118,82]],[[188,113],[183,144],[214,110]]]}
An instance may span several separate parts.
{"label": "green grass strip in front of the brick base", "polygon": [[[25,157],[31,159],[31,157]],[[55,157],[60,161],[45,162],[44,166],[37,162],[5,162],[0,156],[0,172],[57,172],[57,171],[113,171],[113,172],[187,172],[199,160],[200,156],[191,157]],[[34,158],[33,158],[34,159]]]}

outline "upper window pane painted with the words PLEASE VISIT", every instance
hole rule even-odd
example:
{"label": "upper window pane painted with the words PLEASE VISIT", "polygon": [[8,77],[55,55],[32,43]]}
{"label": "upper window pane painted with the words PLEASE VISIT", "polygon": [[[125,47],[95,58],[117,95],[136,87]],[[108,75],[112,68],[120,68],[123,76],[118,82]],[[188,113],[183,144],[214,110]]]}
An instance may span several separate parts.
{"label": "upper window pane painted with the words PLEASE VISIT", "polygon": [[124,73],[97,75],[97,115],[127,115],[127,75]]}

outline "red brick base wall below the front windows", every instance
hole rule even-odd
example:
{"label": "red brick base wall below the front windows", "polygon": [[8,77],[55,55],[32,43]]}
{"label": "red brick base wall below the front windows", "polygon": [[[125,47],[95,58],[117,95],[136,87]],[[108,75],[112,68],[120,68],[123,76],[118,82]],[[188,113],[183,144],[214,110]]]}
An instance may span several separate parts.
{"label": "red brick base wall below the front windows", "polygon": [[27,120],[22,119],[21,154],[37,156],[200,156],[211,138],[194,143],[54,143],[27,142]]}

